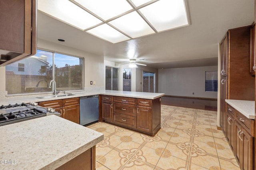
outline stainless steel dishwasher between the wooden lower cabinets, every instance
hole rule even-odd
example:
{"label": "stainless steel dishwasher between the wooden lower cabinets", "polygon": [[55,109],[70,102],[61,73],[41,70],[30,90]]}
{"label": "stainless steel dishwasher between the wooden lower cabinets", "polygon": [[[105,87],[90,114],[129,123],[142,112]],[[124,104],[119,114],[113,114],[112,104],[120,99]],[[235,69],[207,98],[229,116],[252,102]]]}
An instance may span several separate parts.
{"label": "stainless steel dishwasher between the wooden lower cabinets", "polygon": [[80,97],[80,125],[88,125],[99,120],[99,96]]}

